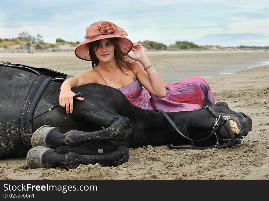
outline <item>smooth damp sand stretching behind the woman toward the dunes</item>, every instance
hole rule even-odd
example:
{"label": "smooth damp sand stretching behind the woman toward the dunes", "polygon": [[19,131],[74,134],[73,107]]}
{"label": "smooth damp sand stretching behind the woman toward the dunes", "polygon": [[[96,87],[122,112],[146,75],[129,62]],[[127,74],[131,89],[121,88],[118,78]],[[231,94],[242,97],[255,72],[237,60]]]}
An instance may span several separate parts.
{"label": "smooth damp sand stretching behind the woman toward the dunes", "polygon": [[[209,78],[269,65],[269,51],[149,51],[146,54],[165,84],[192,76]],[[92,69],[89,61],[77,58],[73,52],[2,53],[0,61],[46,67],[74,76]]]}

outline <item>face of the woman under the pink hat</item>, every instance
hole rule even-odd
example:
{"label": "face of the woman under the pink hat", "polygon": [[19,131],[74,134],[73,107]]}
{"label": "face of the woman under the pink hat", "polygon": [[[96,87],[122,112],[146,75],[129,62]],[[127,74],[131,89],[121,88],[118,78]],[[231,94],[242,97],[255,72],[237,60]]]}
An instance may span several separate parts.
{"label": "face of the woman under the pink hat", "polygon": [[109,42],[108,39],[101,39],[101,44],[95,47],[94,52],[99,61],[109,62],[114,59],[114,50],[113,43]]}

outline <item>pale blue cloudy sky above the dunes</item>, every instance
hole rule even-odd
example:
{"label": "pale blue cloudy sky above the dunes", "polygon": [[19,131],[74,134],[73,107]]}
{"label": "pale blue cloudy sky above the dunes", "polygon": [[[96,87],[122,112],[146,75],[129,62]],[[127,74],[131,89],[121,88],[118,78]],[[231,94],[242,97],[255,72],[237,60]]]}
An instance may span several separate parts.
{"label": "pale blue cloudy sky above the dunes", "polygon": [[83,41],[85,28],[110,21],[133,43],[269,46],[268,0],[0,0],[0,38],[27,31],[46,43]]}

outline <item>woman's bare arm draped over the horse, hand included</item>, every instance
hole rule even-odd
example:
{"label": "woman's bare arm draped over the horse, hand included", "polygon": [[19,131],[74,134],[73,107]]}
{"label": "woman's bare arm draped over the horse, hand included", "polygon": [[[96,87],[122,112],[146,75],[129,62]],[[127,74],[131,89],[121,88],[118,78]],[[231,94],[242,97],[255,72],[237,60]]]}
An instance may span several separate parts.
{"label": "woman's bare arm draped over the horse, hand included", "polygon": [[[94,70],[84,72],[78,76],[71,77],[64,80],[61,85],[61,92],[59,96],[59,104],[61,107],[66,108],[66,113],[73,112],[73,96],[76,95],[71,89],[79,87],[85,84],[96,83],[96,77],[98,76]],[[81,97],[76,99],[83,101]]]}

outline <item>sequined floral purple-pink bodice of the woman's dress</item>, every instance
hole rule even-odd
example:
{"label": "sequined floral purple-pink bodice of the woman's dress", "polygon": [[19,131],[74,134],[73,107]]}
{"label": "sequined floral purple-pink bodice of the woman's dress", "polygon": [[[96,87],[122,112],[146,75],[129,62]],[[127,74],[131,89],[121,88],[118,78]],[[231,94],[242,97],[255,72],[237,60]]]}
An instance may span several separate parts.
{"label": "sequined floral purple-pink bodice of the woman's dress", "polygon": [[148,109],[151,96],[137,78],[131,84],[120,87],[118,90],[120,90],[133,105],[145,110]]}

